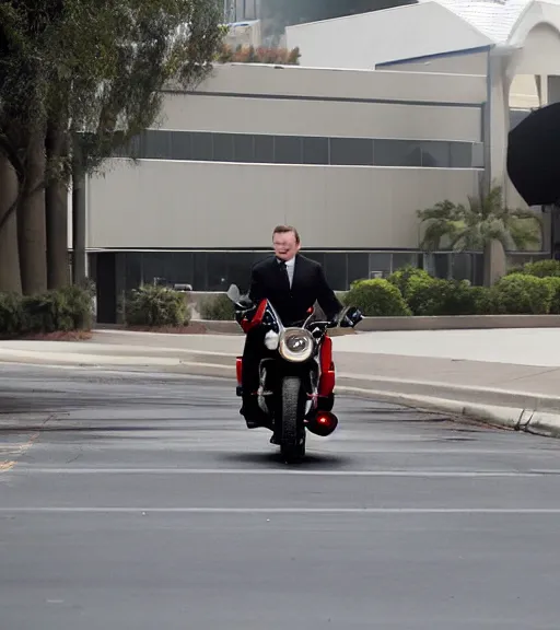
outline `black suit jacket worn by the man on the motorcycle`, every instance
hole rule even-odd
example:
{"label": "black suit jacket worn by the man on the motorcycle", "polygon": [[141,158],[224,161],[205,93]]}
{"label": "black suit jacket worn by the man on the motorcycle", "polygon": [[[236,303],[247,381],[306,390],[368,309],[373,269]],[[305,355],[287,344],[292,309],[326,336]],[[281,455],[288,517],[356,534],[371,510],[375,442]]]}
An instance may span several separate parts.
{"label": "black suit jacket worn by the man on the motorcycle", "polygon": [[282,323],[290,325],[307,318],[307,310],[318,302],[328,319],[341,311],[342,305],[327,283],[323,267],[298,254],[292,287],[278,258],[271,256],[253,267],[249,298],[258,303],[270,300]]}

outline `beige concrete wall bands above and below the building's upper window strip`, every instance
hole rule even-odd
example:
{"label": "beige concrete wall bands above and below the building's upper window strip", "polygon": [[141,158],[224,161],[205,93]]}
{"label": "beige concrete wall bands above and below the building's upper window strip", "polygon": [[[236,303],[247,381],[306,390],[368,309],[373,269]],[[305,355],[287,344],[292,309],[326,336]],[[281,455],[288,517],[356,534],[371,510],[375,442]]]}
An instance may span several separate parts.
{"label": "beige concrete wall bands above and below the building's upper window strip", "polygon": [[[485,94],[486,79],[472,75],[230,65],[217,67],[195,94],[167,92],[158,126],[480,142]],[[375,153],[375,140],[373,147]],[[271,228],[282,222],[295,223],[308,247],[416,248],[416,210],[445,198],[466,201],[480,175],[443,161],[434,168],[381,158],[376,166],[339,166],[352,162],[330,158],[313,165],[144,158],[161,159],[136,166],[115,159],[90,179],[90,249],[268,247]]]}

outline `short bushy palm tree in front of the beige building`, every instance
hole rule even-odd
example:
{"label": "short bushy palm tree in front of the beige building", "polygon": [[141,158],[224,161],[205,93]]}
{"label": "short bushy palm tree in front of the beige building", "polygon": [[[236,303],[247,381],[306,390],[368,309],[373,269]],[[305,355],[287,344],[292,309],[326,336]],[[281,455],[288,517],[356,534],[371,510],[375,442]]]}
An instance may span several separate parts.
{"label": "short bushy palm tree in front of the beige building", "polygon": [[420,244],[424,249],[483,252],[487,285],[491,283],[494,243],[500,243],[504,252],[527,250],[539,246],[542,240],[540,215],[532,210],[508,208],[501,186],[494,186],[488,195],[468,197],[467,206],[445,200],[433,208],[418,210],[417,214],[427,224]]}

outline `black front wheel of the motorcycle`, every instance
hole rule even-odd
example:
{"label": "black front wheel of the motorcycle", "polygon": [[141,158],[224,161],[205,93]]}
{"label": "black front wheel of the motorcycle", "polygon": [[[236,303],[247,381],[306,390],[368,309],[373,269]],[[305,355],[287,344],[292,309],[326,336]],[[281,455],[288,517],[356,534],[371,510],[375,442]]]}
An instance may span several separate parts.
{"label": "black front wheel of the motorcycle", "polygon": [[287,462],[305,457],[305,392],[301,378],[285,376],[282,382],[282,431],[280,453]]}

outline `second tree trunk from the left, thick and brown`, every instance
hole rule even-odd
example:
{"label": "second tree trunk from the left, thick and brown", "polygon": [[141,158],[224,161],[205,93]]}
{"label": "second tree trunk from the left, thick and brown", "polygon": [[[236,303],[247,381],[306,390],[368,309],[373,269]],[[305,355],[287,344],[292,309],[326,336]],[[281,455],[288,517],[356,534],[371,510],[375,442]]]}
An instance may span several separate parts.
{"label": "second tree trunk from the left, thick and brown", "polygon": [[25,295],[47,289],[45,224],[45,135],[34,132],[27,145],[25,186],[18,209],[20,267]]}

